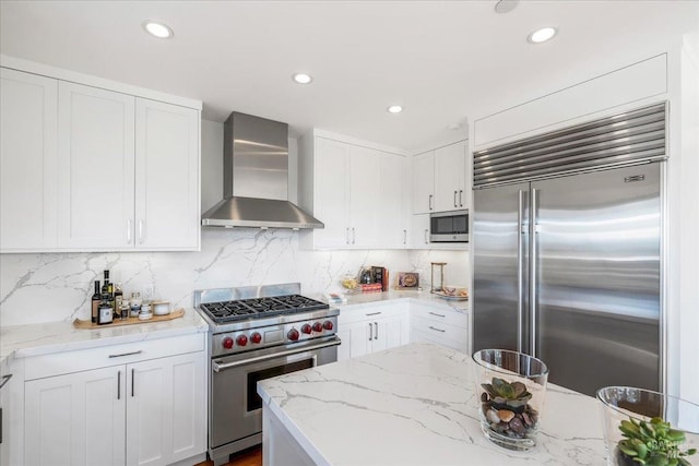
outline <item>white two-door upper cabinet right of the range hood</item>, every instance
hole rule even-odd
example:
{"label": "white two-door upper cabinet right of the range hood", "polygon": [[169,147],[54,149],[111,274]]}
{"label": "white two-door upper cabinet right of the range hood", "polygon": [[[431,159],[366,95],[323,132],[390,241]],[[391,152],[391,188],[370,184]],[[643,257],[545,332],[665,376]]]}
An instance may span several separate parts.
{"label": "white two-door upper cabinet right of the range hood", "polygon": [[313,133],[299,142],[299,204],[325,225],[304,232],[304,247],[406,248],[406,158],[368,145]]}

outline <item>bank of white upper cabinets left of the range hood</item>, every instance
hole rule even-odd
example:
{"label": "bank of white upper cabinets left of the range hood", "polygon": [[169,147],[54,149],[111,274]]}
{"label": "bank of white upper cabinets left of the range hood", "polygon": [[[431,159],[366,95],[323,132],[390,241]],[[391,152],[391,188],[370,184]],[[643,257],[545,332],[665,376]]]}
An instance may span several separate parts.
{"label": "bank of white upper cabinets left of the range hood", "polygon": [[197,103],[1,71],[1,252],[199,250]]}

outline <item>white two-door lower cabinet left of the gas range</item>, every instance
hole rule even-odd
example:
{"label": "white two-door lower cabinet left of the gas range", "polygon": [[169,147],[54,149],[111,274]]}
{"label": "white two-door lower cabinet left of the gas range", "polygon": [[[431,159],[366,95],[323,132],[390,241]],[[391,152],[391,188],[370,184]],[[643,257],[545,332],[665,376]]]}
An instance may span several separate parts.
{"label": "white two-door lower cabinet left of the gas range", "polygon": [[[191,346],[192,336],[201,338],[201,350],[138,360],[139,355],[161,356],[167,346]],[[82,370],[83,362],[75,367],[80,372],[27,380],[25,464],[169,465],[204,453],[203,337],[191,335],[182,340],[183,346],[178,346],[181,339],[157,342],[156,347],[135,351],[133,346],[109,347],[111,356],[123,356],[133,362]],[[149,345],[152,343],[155,342]],[[60,365],[71,356],[94,358],[87,356],[90,351],[37,357],[32,366],[40,366],[43,359],[45,363]]]}

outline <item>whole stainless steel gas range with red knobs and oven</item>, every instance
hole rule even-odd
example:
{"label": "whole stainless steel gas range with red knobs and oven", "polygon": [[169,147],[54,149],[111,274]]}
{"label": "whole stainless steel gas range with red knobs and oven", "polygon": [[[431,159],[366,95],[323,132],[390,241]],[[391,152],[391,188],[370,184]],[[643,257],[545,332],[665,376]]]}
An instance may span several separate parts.
{"label": "whole stainless steel gas range with red knobs and oven", "polygon": [[209,455],[215,466],[262,442],[257,382],[337,360],[336,308],[300,284],[194,291],[209,323]]}

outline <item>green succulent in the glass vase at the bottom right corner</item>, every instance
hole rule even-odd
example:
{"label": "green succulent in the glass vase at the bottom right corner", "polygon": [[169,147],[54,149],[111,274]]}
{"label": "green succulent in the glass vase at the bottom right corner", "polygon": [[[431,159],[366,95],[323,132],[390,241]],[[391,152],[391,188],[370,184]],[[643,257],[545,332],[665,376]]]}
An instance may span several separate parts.
{"label": "green succulent in the glass vase at the bottom right corner", "polygon": [[685,432],[674,430],[670,422],[655,417],[650,422],[631,417],[623,420],[619,430],[625,437],[618,447],[633,462],[647,466],[691,466],[686,456],[697,453],[697,449],[679,451],[685,442]]}

